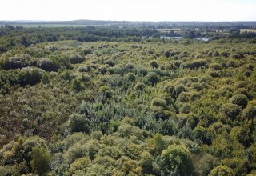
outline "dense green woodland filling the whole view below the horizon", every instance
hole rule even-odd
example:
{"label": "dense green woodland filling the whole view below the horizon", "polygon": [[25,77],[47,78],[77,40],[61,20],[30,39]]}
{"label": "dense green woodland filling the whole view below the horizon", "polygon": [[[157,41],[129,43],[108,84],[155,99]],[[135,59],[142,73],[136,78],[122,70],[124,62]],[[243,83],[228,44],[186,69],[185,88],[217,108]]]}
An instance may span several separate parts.
{"label": "dense green woodland filling the whole view below the horizon", "polygon": [[255,24],[39,25],[0,27],[0,175],[256,175]]}

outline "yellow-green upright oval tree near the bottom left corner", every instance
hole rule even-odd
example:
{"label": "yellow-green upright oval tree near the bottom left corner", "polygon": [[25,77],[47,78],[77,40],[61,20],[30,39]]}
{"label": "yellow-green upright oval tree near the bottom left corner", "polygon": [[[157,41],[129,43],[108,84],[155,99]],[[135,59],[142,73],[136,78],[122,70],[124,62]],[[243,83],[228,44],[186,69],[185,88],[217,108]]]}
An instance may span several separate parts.
{"label": "yellow-green upright oval tree near the bottom left corner", "polygon": [[30,165],[34,173],[42,175],[50,170],[50,152],[42,146],[35,146],[32,150]]}

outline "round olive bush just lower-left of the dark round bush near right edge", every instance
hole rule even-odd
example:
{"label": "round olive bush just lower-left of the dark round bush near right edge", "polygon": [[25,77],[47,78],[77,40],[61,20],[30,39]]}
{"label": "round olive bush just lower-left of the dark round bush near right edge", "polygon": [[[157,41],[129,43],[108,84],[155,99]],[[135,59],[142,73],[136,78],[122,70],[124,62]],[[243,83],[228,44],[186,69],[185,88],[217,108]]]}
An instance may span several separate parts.
{"label": "round olive bush just lower-left of the dark round bush near right edge", "polygon": [[234,119],[240,114],[241,109],[238,105],[226,103],[222,106],[221,111],[227,118]]}

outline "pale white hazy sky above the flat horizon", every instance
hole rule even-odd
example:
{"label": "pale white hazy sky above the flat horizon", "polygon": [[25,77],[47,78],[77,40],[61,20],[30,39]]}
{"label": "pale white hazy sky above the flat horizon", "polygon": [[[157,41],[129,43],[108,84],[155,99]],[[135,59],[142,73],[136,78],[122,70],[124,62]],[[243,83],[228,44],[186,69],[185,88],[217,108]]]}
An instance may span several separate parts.
{"label": "pale white hazy sky above the flat horizon", "polygon": [[256,0],[2,0],[0,20],[256,21]]}

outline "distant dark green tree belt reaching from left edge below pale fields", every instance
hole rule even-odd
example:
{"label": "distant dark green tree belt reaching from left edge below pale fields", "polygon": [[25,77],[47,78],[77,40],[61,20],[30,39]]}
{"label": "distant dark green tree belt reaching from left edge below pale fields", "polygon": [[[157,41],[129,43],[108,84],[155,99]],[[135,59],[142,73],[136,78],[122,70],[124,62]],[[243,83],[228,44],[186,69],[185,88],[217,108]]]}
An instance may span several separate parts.
{"label": "distant dark green tree belt reaching from left edge below pale fields", "polygon": [[158,33],[158,31],[146,27],[86,26],[76,28],[23,28],[22,26],[14,27],[6,25],[0,29],[0,52],[6,52],[18,45],[28,47],[40,42],[61,40],[78,40],[79,42],[138,42],[143,36],[149,37],[154,33]]}

